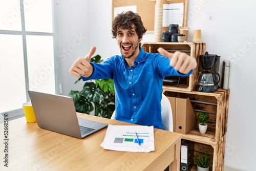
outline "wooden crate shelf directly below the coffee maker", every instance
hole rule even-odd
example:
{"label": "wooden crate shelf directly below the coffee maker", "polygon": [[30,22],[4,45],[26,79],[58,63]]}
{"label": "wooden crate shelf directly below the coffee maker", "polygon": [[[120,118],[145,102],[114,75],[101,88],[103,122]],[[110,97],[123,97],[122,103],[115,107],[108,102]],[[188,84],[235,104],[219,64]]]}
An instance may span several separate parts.
{"label": "wooden crate shelf directly below the coffee maker", "polygon": [[[196,127],[184,135],[185,138],[196,142],[203,142],[216,145],[219,139],[226,133],[227,105],[229,90],[217,89],[215,92],[184,92],[173,90],[168,86],[163,86],[163,93],[168,97],[189,98],[196,115],[199,111],[209,113],[208,132],[203,135],[199,133],[198,121]],[[212,131],[211,131],[212,130]]]}

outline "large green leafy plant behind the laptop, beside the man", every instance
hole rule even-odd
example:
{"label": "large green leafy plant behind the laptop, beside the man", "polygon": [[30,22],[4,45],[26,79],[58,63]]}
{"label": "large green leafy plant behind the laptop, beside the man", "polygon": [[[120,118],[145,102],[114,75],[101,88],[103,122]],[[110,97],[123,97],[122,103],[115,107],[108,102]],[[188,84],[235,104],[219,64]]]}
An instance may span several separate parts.
{"label": "large green leafy plant behind the laptop, beside the man", "polygon": [[[96,55],[91,61],[100,63],[103,60],[100,55]],[[78,78],[75,84],[80,80]],[[95,116],[111,118],[115,110],[114,82],[110,78],[86,81],[81,91],[71,90],[69,96],[73,98],[76,112],[89,114],[94,110]]]}

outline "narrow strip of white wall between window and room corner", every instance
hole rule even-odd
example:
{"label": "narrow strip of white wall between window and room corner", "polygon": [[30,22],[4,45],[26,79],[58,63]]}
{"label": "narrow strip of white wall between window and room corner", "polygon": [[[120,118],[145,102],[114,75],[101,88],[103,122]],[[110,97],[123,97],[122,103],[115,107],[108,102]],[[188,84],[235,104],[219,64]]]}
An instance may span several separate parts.
{"label": "narrow strip of white wall between window and room corner", "polygon": [[58,56],[62,94],[70,90],[81,90],[83,83],[74,85],[78,79],[69,74],[69,68],[77,57],[89,51],[89,1],[61,0],[57,5]]}

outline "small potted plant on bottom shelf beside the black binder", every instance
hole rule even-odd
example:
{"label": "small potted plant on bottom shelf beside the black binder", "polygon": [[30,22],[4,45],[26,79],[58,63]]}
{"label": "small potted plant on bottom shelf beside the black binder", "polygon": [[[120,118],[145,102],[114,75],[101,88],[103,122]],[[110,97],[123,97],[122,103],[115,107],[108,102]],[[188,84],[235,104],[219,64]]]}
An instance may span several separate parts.
{"label": "small potted plant on bottom shelf beside the black binder", "polygon": [[194,157],[195,162],[197,163],[198,171],[207,171],[210,166],[210,156],[206,154],[200,154]]}

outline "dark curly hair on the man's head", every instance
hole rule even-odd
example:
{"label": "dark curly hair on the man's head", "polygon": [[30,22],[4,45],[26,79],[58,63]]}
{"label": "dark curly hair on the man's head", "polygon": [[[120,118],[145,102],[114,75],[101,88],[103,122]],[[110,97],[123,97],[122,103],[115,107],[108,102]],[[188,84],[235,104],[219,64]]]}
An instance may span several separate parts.
{"label": "dark curly hair on the man's head", "polygon": [[112,38],[116,38],[117,31],[121,29],[133,29],[135,26],[135,31],[138,34],[139,38],[143,36],[146,32],[146,28],[143,26],[141,17],[132,11],[122,12],[118,14],[112,23]]}

